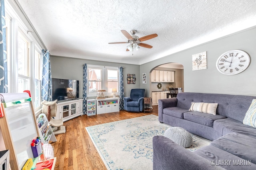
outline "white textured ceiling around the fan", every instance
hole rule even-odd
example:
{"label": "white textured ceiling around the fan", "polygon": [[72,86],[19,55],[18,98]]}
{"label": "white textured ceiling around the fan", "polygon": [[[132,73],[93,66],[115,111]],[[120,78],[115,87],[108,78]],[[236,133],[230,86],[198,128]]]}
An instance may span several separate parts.
{"label": "white textured ceiling around the fan", "polygon": [[[51,55],[143,64],[256,25],[256,0],[18,0]],[[126,51],[120,30],[157,33]]]}

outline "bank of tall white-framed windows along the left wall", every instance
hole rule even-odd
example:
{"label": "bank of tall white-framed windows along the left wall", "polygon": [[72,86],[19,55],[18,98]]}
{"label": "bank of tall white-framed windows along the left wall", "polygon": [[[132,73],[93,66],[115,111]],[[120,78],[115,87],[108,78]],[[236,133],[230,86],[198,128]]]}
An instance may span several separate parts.
{"label": "bank of tall white-framed windows along the left wall", "polygon": [[[30,90],[36,114],[41,108],[42,49],[46,49],[26,21],[19,8],[5,3],[6,52],[8,64],[8,92],[18,93]],[[28,27],[27,27],[28,26]],[[28,32],[30,30],[30,32]]]}

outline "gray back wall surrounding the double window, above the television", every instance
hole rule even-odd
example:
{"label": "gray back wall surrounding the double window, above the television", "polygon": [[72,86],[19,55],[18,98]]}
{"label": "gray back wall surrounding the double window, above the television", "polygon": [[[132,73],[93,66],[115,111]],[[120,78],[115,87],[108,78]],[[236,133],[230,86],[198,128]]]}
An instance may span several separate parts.
{"label": "gray back wall surrounding the double window, above the television", "polygon": [[[124,67],[124,96],[130,96],[133,88],[140,88],[140,66],[133,64],[108,63],[67,57],[51,56],[52,78],[79,80],[79,98],[83,90],[83,64]],[[136,84],[127,84],[127,74],[135,74]]]}

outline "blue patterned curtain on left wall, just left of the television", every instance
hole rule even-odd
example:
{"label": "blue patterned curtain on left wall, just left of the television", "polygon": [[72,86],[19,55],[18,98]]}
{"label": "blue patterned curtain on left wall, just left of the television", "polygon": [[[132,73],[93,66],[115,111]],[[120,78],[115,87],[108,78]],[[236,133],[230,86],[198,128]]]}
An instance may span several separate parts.
{"label": "blue patterned curtain on left wall, just left of the television", "polygon": [[42,100],[52,101],[52,73],[49,50],[42,50]]}

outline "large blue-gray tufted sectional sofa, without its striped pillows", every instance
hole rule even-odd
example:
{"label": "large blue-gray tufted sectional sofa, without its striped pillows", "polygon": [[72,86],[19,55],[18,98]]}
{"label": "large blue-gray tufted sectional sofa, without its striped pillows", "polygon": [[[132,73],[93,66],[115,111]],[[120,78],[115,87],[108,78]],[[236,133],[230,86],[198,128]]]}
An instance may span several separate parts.
{"label": "large blue-gray tufted sectional sofa, without its striped pillows", "polygon": [[[153,169],[255,170],[256,128],[243,124],[246,111],[255,98],[256,96],[184,92],[179,93],[177,98],[159,100],[158,119],[161,123],[182,127],[212,143],[190,152],[164,136],[155,136]],[[189,111],[192,102],[218,103],[216,115]],[[212,160],[216,162],[215,166],[211,164]],[[229,160],[230,162],[218,162]],[[241,162],[247,165],[238,166]]]}

